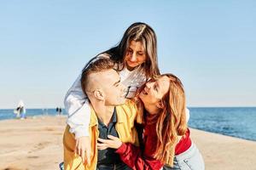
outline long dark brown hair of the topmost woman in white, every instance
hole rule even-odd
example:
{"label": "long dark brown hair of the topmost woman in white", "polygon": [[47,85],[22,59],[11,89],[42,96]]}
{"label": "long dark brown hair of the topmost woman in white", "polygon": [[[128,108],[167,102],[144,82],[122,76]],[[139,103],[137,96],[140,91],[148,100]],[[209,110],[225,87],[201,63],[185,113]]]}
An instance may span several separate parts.
{"label": "long dark brown hair of the topmost woman in white", "polygon": [[[151,26],[143,22],[135,22],[127,28],[119,44],[103,53],[109,54],[110,59],[117,63],[125,64],[125,56],[131,41],[142,42],[147,55],[146,61],[142,64],[147,79],[160,75],[157,59],[157,37]],[[119,68],[122,69],[122,68]]]}

